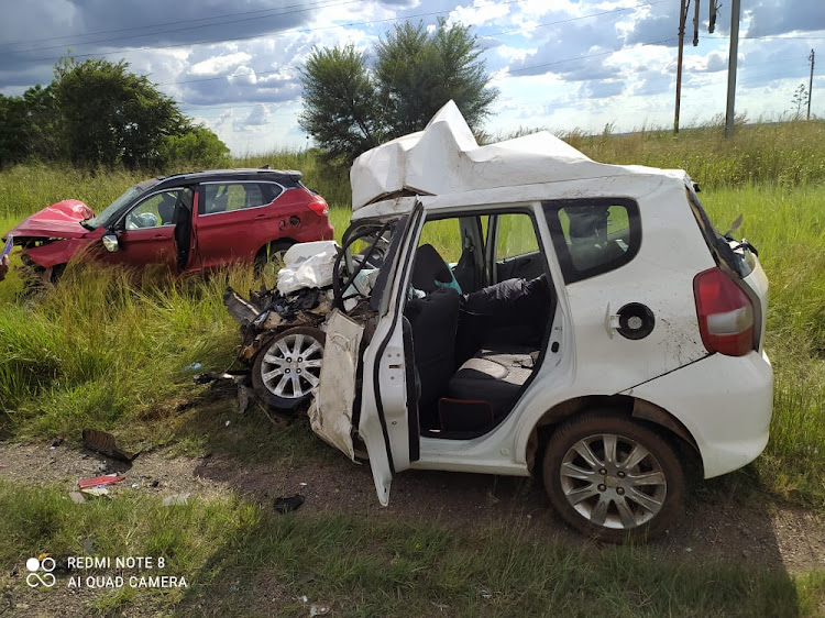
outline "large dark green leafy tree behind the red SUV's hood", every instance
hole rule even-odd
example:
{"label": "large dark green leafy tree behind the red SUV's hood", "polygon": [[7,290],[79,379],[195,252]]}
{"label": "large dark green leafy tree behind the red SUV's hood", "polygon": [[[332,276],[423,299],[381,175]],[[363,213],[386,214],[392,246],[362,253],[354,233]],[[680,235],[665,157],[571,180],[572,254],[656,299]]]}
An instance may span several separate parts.
{"label": "large dark green leafy tree behind the red SUV's hood", "polygon": [[164,140],[190,128],[169,97],[128,69],[125,60],[72,57],[55,67],[52,88],[74,163],[153,166]]}

